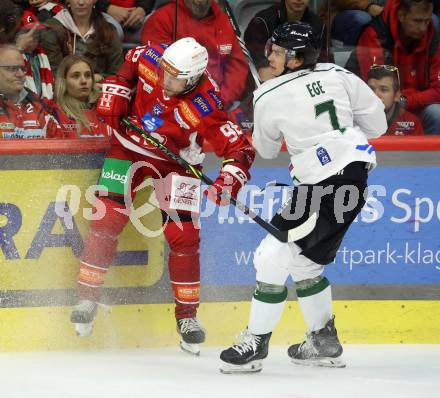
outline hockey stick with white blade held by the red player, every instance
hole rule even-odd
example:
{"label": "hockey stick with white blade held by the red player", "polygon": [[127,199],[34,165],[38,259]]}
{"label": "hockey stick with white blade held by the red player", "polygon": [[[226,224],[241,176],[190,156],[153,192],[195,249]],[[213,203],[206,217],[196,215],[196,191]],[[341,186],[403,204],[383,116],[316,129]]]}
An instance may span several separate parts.
{"label": "hockey stick with white blade held by the red player", "polygon": [[[205,174],[203,174],[199,169],[189,164],[185,159],[181,158],[179,155],[171,151],[168,147],[163,145],[156,138],[152,137],[150,134],[147,134],[142,128],[136,126],[134,123],[129,120],[123,118],[122,122],[130,129],[141,135],[146,141],[148,141],[151,145],[162,151],[167,157],[174,160],[184,169],[190,171],[194,177],[203,181],[205,184],[211,185],[213,181]],[[226,191],[226,195],[229,192]],[[309,222],[306,221],[304,224],[300,225],[297,228],[293,228],[289,231],[280,231],[278,228],[274,227],[271,223],[263,220],[260,216],[255,214],[251,209],[249,209],[244,203],[238,201],[232,196],[228,196],[229,201],[238,209],[240,209],[244,214],[246,214],[250,219],[254,220],[258,225],[263,227],[267,232],[272,234],[275,238],[277,238],[280,242],[294,242],[295,240],[301,239],[303,236],[310,233],[315,224],[316,220],[312,220],[312,217],[309,219]],[[313,223],[314,221],[314,223]],[[311,228],[311,229],[310,229]],[[308,231],[308,232],[307,232]]]}

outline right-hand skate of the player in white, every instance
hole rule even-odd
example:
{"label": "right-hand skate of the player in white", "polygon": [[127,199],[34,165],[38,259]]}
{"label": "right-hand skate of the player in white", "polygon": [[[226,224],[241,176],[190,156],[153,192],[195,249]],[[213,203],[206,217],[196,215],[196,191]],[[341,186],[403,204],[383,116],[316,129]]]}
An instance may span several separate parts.
{"label": "right-hand skate of the player in white", "polygon": [[307,366],[324,366],[330,368],[344,368],[342,360],[342,346],[335,329],[333,316],[320,330],[307,333],[306,340],[301,344],[289,347],[287,354],[292,362]]}

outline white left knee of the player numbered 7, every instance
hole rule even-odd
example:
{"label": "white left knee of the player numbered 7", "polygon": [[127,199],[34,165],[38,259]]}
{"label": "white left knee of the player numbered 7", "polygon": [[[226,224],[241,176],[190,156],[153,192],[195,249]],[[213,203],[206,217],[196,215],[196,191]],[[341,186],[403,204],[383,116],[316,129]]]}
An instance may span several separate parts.
{"label": "white left knee of the player numbered 7", "polygon": [[[257,280],[274,285],[284,285],[295,255],[295,246],[282,243],[272,235],[267,235],[257,247],[254,267]],[[291,247],[292,246],[292,247]]]}

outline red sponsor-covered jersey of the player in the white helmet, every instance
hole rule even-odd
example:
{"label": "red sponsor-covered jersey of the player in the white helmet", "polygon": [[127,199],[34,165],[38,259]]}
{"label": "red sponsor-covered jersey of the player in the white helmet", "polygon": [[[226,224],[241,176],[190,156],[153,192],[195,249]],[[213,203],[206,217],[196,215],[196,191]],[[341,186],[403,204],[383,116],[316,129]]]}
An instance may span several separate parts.
{"label": "red sponsor-covered jersey of the player in the white helmet", "polygon": [[[228,120],[220,89],[207,72],[199,85],[189,93],[171,98],[164,95],[159,79],[159,63],[164,48],[143,46],[130,50],[118,75],[111,77],[121,86],[136,88],[131,114],[144,130],[190,164],[197,165],[203,161],[202,147],[206,139],[220,157],[234,158],[234,154],[244,151],[248,158],[248,162],[244,162],[248,163],[245,167],[249,167],[254,150],[241,129]],[[103,94],[98,110],[105,109],[106,101],[106,95]],[[126,148],[170,162],[160,150],[137,133],[128,131],[127,134],[115,132],[116,138]]]}

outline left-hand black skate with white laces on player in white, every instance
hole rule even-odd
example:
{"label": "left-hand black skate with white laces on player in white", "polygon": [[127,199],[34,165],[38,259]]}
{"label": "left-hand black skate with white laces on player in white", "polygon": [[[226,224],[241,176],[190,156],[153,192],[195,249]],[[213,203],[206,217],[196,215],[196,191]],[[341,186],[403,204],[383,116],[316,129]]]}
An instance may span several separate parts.
{"label": "left-hand black skate with white laces on player in white", "polygon": [[245,329],[241,332],[240,343],[222,351],[220,372],[255,373],[263,369],[262,360],[269,352],[269,340],[272,333],[255,335]]}

